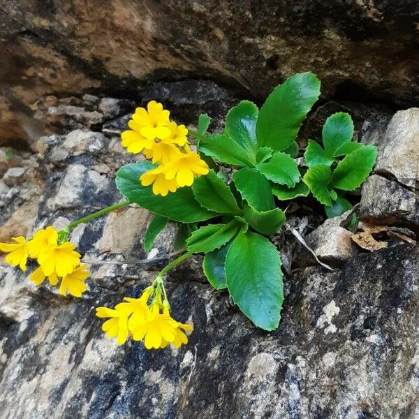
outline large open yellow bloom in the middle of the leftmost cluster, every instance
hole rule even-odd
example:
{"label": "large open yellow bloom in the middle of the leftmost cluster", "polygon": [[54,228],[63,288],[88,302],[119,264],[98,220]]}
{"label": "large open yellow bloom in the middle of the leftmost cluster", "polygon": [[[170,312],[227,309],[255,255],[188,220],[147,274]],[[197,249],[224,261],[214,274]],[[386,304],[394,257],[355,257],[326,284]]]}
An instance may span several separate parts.
{"label": "large open yellow bloom in the middle of the leftmost cluster", "polygon": [[47,251],[41,251],[38,256],[38,263],[41,265],[45,276],[53,273],[59,277],[71,274],[75,267],[80,265],[80,253],[74,250],[75,245],[71,242],[64,242],[59,246]]}

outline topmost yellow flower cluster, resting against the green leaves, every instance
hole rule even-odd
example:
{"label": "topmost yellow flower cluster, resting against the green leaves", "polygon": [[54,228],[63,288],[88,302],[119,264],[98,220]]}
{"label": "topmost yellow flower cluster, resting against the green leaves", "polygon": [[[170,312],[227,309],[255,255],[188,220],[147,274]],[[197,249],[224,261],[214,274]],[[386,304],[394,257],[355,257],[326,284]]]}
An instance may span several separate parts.
{"label": "topmost yellow flower cluster, resting against the green leaves", "polygon": [[151,101],[147,110],[135,109],[128,127],[131,129],[121,135],[122,145],[158,164],[140,177],[142,186],[153,185],[155,195],[166,196],[169,191],[191,186],[195,177],[209,172],[207,163],[189,148],[188,129],[170,121],[169,111],[163,110],[161,103]]}

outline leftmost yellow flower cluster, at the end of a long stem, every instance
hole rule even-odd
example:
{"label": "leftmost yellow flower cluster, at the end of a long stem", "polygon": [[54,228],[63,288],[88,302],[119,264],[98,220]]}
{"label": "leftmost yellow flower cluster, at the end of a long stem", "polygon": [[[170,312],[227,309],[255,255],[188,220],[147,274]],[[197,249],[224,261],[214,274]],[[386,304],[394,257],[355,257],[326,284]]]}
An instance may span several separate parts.
{"label": "leftmost yellow flower cluster, at the end of a long stem", "polygon": [[39,267],[31,273],[34,284],[41,285],[45,278],[56,286],[61,278],[59,293],[81,297],[87,290],[84,280],[89,277],[87,265],[80,264],[80,253],[71,242],[59,243],[58,232],[54,227],[38,230],[27,241],[24,237],[13,237],[15,243],[0,243],[0,251],[8,253],[6,263],[19,265],[27,270],[28,258],[36,259]]}

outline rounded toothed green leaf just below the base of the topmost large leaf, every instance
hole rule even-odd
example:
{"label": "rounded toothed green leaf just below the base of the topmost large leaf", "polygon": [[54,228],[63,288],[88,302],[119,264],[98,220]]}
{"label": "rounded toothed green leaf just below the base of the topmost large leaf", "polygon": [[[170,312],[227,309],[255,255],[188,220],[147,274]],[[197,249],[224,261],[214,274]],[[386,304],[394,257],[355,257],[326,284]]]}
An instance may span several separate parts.
{"label": "rounded toothed green leaf just below the base of the topmost large leaf", "polygon": [[285,153],[275,153],[270,161],[260,163],[256,168],[272,182],[290,188],[293,188],[300,180],[300,170],[298,170],[297,163]]}

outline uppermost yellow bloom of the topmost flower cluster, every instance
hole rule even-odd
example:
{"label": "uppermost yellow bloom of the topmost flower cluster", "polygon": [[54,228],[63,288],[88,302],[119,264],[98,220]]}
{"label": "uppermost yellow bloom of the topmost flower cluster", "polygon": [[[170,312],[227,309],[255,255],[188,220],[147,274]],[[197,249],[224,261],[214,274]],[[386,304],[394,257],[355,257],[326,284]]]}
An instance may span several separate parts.
{"label": "uppermost yellow bloom of the topmost flower cluster", "polygon": [[170,135],[169,111],[163,110],[163,105],[156,101],[149,102],[147,110],[145,108],[135,109],[133,121],[135,122],[135,131],[138,128],[138,132],[149,140],[155,138],[164,140]]}

